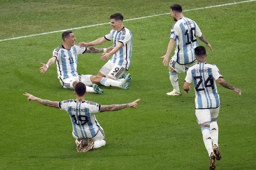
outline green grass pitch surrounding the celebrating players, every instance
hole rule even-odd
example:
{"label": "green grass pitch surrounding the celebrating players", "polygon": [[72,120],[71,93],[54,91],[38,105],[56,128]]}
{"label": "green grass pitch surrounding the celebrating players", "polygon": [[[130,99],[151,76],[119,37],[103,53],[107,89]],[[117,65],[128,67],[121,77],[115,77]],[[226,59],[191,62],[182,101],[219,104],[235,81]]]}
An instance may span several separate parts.
{"label": "green grass pitch surrounding the celebrating players", "polygon": [[[178,0],[183,10],[239,2],[239,0]],[[109,22],[121,12],[125,19],[168,13],[173,0],[1,0],[0,39],[26,36]],[[256,169],[255,46],[256,2],[184,12],[197,22],[213,51],[208,63],[242,90],[242,96],[218,86],[218,118],[222,160],[217,170]],[[54,101],[73,99],[63,89],[56,66],[40,74],[61,32],[0,42],[0,169],[1,170],[149,170],[208,169],[208,154],[194,114],[194,89],[180,97],[172,90],[168,69],[159,58],[166,53],[170,15],[125,21],[133,34],[133,80],[128,90],[102,87],[104,95],[88,93],[99,104],[122,104],[141,98],[137,109],[96,114],[106,134],[106,146],[87,153],[75,150],[69,115],[28,102],[24,92]],[[74,30],[76,43],[92,41],[111,30],[109,25]],[[107,42],[99,47],[110,46]],[[200,45],[204,45],[199,41]],[[205,46],[205,45],[204,45]],[[172,53],[173,54],[173,53]],[[78,71],[96,75],[104,65],[100,54],[78,57]],[[179,74],[182,88],[185,74]]]}

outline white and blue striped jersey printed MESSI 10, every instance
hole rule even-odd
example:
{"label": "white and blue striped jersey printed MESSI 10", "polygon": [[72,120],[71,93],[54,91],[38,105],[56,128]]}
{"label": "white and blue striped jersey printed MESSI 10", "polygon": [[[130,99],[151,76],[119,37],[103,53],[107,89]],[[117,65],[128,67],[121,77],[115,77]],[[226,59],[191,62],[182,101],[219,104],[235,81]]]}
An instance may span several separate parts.
{"label": "white and blue striped jersey printed MESSI 10", "polygon": [[201,37],[202,32],[195,21],[182,17],[171,27],[171,39],[176,40],[176,62],[185,65],[195,60],[195,48],[198,46],[196,37]]}

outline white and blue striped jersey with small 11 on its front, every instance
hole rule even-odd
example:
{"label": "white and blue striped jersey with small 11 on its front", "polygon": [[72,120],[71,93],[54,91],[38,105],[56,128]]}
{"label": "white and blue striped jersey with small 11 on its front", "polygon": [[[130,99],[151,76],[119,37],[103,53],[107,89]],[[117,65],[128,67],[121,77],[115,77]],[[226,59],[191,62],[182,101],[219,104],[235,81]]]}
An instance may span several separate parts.
{"label": "white and blue striped jersey with small 11 on its front", "polygon": [[85,53],[86,48],[74,45],[71,49],[65,49],[63,45],[55,48],[52,56],[56,57],[57,76],[63,83],[63,80],[78,76],[77,55]]}

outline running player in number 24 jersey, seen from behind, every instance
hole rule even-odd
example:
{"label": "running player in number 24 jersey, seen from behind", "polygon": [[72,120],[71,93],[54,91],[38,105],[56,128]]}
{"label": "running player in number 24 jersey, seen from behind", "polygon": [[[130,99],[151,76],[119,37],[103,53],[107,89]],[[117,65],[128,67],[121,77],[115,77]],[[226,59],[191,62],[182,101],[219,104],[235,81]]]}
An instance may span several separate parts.
{"label": "running player in number 24 jersey, seen from behind", "polygon": [[216,167],[215,160],[221,159],[218,148],[217,117],[220,110],[220,97],[217,92],[215,80],[223,87],[233,90],[241,95],[238,88],[233,87],[223,79],[216,65],[206,63],[206,49],[203,46],[195,48],[195,58],[198,64],[187,71],[183,89],[189,92],[190,83],[195,88],[195,116],[201,126],[204,145],[210,158],[210,169]]}

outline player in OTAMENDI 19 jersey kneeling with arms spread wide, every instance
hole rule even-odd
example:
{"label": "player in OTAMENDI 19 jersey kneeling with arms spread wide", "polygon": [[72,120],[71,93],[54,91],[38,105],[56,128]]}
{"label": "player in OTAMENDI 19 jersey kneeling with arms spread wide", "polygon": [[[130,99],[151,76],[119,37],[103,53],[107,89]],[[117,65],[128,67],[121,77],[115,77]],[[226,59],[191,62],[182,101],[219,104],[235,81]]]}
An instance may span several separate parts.
{"label": "player in OTAMENDI 19 jersey kneeling with arms spread wide", "polygon": [[137,108],[137,103],[140,101],[140,99],[137,99],[129,104],[121,105],[100,105],[95,102],[90,102],[85,100],[86,86],[81,82],[77,83],[75,86],[75,100],[70,99],[61,102],[52,102],[50,100],[40,99],[29,93],[24,93],[24,95],[28,97],[29,101],[36,101],[40,104],[68,112],[73,125],[72,134],[76,139],[76,150],[78,152],[87,152],[106,145],[104,131],[94,113],[116,111],[125,109],[126,107]]}

